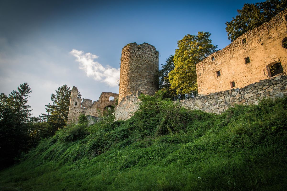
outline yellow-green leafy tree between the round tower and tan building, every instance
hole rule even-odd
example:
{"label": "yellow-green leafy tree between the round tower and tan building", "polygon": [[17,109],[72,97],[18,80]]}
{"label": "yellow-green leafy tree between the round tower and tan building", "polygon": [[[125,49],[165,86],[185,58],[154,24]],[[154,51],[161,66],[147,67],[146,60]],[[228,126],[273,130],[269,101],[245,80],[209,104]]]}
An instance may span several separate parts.
{"label": "yellow-green leafy tree between the round tower and tan building", "polygon": [[197,95],[197,76],[195,64],[216,52],[209,32],[199,31],[197,35],[186,35],[177,42],[174,54],[174,69],[168,74],[170,88],[177,94]]}

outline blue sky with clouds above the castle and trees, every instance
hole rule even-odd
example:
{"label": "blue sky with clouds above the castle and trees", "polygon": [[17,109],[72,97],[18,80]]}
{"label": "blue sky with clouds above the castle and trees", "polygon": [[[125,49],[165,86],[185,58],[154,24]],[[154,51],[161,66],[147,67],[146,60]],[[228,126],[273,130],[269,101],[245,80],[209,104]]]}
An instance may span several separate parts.
{"label": "blue sky with clouds above the castle and trees", "polygon": [[51,93],[64,84],[82,97],[119,92],[122,48],[148,42],[164,64],[177,41],[209,31],[224,48],[225,22],[244,3],[257,1],[0,1],[0,92],[23,82],[31,87],[28,104],[38,116]]}

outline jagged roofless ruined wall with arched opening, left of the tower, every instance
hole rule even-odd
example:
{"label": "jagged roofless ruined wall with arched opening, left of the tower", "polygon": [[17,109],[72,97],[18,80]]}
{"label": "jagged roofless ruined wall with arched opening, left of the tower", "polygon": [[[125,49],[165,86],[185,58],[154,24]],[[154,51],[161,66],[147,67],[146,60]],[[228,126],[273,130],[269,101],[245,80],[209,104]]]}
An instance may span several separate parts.
{"label": "jagged roofless ruined wall with arched opening, left of the tower", "polygon": [[[91,99],[78,98],[77,95],[78,89],[73,86],[67,124],[77,122],[81,114],[98,117],[100,112],[100,115],[103,115],[105,107],[116,106],[115,100],[119,96],[112,92],[102,92],[99,100],[93,102]],[[109,101],[110,96],[114,97],[114,100]]]}

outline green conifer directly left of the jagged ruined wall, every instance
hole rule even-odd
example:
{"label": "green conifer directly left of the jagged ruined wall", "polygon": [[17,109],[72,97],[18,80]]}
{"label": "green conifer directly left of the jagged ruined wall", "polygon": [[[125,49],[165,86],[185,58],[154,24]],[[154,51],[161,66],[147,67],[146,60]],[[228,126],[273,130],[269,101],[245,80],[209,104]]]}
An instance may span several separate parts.
{"label": "green conifer directly left of the jagged ruined wall", "polygon": [[[52,93],[51,95],[52,104],[45,105],[48,114],[42,113],[42,116],[40,116],[52,125],[53,132],[67,125],[71,91],[67,85],[59,87],[56,94]],[[78,97],[80,98],[79,93]]]}

